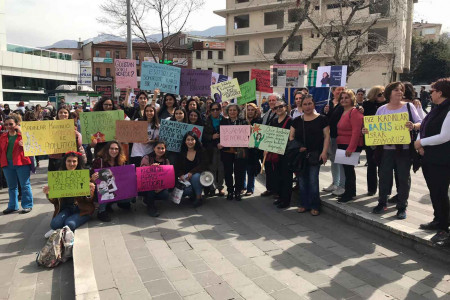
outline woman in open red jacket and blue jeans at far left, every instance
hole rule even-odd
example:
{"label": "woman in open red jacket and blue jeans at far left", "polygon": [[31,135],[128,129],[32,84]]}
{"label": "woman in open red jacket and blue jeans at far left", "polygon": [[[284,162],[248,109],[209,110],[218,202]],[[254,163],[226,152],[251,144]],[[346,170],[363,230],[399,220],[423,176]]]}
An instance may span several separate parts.
{"label": "woman in open red jacket and blue jeans at far left", "polygon": [[17,117],[9,115],[3,126],[7,132],[0,136],[0,163],[8,183],[9,202],[3,211],[4,215],[19,210],[17,185],[20,182],[22,190],[22,213],[33,209],[33,194],[30,185],[31,160],[23,151],[22,133]]}

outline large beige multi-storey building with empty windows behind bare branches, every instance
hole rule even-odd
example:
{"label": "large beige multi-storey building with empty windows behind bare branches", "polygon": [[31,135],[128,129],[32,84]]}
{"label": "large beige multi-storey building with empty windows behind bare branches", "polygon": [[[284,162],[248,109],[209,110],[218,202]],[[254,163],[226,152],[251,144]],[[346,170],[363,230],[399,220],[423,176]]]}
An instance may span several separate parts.
{"label": "large beige multi-storey building with empty windows behind bare branches", "polygon": [[[362,0],[369,4],[369,1]],[[350,76],[348,87],[371,87],[387,84],[409,69],[413,6],[417,0],[380,0],[377,5],[357,12],[352,24],[356,33],[377,18],[377,23],[367,33],[367,47],[359,52],[360,67]],[[228,76],[240,83],[249,80],[253,68],[268,70],[273,57],[294,28],[298,18],[296,0],[226,0],[224,10],[215,11],[226,18],[226,35],[220,38],[226,49],[223,66]],[[312,0],[310,16],[321,28],[329,27],[340,12],[339,0]],[[338,34],[338,33],[337,33]],[[373,37],[377,37],[376,39]],[[320,44],[321,36],[305,21],[294,39],[286,47],[282,58],[287,63],[303,63]],[[324,43],[308,62],[308,68],[332,65],[334,46]]]}

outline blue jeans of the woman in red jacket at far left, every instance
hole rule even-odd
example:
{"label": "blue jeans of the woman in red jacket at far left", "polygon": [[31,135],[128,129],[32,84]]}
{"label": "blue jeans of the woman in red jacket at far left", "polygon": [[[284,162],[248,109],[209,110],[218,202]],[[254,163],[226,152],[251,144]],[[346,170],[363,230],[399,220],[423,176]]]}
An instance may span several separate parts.
{"label": "blue jeans of the woman in red jacket at far left", "polygon": [[17,179],[19,179],[20,187],[22,188],[22,208],[33,207],[33,194],[31,193],[30,185],[30,171],[30,165],[14,166],[12,160],[9,160],[8,166],[3,168],[3,174],[5,174],[6,182],[8,183],[9,209],[19,209]]}

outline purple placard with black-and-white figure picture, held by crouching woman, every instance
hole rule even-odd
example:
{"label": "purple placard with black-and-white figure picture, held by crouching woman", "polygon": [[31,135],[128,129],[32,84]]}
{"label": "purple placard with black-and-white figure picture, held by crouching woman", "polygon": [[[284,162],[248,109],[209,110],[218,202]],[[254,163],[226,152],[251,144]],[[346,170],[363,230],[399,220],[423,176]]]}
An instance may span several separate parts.
{"label": "purple placard with black-and-white figure picture, held by crouching woman", "polygon": [[136,169],[134,165],[95,169],[98,172],[98,203],[108,203],[137,196]]}

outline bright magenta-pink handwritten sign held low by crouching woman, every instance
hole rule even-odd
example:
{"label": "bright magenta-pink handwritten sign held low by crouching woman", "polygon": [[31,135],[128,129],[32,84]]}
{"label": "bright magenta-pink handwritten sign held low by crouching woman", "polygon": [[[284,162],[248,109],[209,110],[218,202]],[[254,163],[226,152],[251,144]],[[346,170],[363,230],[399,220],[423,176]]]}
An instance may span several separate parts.
{"label": "bright magenta-pink handwritten sign held low by crouching woman", "polygon": [[175,186],[173,166],[148,166],[136,168],[138,192],[171,189]]}

